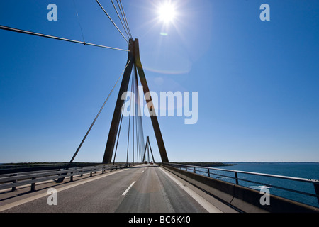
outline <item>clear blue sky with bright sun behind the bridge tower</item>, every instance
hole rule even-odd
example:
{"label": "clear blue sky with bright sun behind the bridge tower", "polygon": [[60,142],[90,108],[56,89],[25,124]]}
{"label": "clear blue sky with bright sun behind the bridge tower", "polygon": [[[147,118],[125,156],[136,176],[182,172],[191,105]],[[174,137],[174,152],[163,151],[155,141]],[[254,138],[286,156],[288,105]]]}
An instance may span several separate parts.
{"label": "clear blue sky with bright sun behind the bridge tower", "polygon": [[[0,1],[0,24],[83,41],[80,21],[86,42],[128,48],[96,1],[74,2]],[[122,28],[111,1],[100,2]],[[319,162],[319,1],[172,2],[164,28],[160,1],[122,0],[150,89],[198,92],[196,124],[159,117],[169,160]],[[264,3],[270,21],[259,18]],[[0,162],[68,162],[127,52],[2,30],[0,40]],[[74,161],[102,161],[118,89]],[[143,125],[160,161],[150,118]]]}

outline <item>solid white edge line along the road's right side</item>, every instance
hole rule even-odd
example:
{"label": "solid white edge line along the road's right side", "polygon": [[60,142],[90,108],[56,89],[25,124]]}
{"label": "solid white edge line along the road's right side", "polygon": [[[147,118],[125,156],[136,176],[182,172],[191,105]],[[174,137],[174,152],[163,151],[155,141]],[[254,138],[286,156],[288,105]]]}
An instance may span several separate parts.
{"label": "solid white edge line along the road's right side", "polygon": [[195,199],[198,204],[203,206],[204,209],[206,209],[209,213],[222,213],[220,209],[218,209],[216,206],[213,206],[209,201],[204,199],[202,196],[194,192],[192,189],[187,187],[186,185],[182,184],[178,179],[173,177],[171,174],[169,174],[166,170],[163,170],[162,167],[159,167],[159,170],[162,170],[170,179],[172,179],[175,183],[177,183],[182,189],[184,189],[185,192],[187,192],[193,199]]}

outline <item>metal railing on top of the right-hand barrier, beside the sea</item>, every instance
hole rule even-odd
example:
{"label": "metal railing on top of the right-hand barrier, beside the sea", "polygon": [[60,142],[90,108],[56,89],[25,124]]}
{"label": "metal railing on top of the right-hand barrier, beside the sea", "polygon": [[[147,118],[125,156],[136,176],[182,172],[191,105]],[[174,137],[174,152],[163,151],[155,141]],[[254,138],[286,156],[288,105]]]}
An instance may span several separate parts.
{"label": "metal railing on top of the right-hand barrier, beside the sea", "polygon": [[[259,184],[262,185],[264,187],[272,187],[275,189],[281,189],[281,190],[285,190],[288,192],[294,192],[294,193],[298,193],[298,194],[303,194],[306,196],[311,196],[311,197],[315,197],[317,198],[318,204],[319,204],[319,180],[318,179],[306,179],[306,178],[301,178],[301,177],[287,177],[287,176],[282,176],[282,175],[271,175],[271,174],[264,174],[264,173],[258,173],[258,172],[246,172],[246,171],[240,171],[240,170],[227,170],[227,169],[220,169],[220,168],[214,168],[214,167],[201,167],[201,166],[194,166],[194,165],[183,165],[183,164],[176,164],[176,163],[163,163],[164,165],[169,165],[171,167],[175,167],[181,170],[186,170],[189,172],[194,172],[200,175],[204,175],[207,177],[211,177],[213,178],[214,176],[217,179],[223,180],[221,179],[223,178],[228,178],[228,179],[233,179],[233,181],[235,182],[235,184],[237,185],[242,185],[240,184],[240,181],[242,182],[249,182],[249,183],[254,183],[254,184]],[[223,173],[218,173],[218,172],[223,172]],[[228,172],[231,173],[231,175],[225,175],[224,172]],[[313,187],[315,189],[315,194],[310,193],[310,192],[303,192],[300,191],[298,189],[291,189],[288,187],[283,187],[283,186],[279,186],[279,185],[274,185],[274,184],[269,184],[265,183],[265,182],[257,182],[255,180],[252,179],[247,179],[247,178],[240,178],[238,177],[238,174],[244,174],[244,175],[254,175],[254,176],[259,176],[259,177],[271,177],[271,178],[276,178],[276,179],[285,179],[285,180],[289,180],[289,181],[293,181],[293,182],[303,182],[303,183],[307,183],[307,184],[313,184]],[[226,180],[225,180],[226,181]],[[228,182],[228,181],[226,181]],[[245,186],[245,185],[242,185]],[[247,187],[247,186],[245,186]]]}

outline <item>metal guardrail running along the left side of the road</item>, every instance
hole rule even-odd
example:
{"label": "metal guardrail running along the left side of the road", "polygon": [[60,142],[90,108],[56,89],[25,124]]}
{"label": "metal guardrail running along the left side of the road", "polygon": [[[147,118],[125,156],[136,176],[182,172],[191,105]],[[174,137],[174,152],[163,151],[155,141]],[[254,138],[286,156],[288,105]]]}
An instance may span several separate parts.
{"label": "metal guardrail running along the left side of the road", "polygon": [[130,167],[132,164],[121,164],[121,165],[96,165],[91,167],[74,167],[69,170],[43,170],[33,172],[18,172],[12,174],[0,175],[0,190],[9,189],[12,191],[16,190],[16,187],[31,184],[31,192],[35,191],[35,183],[45,182],[47,180],[56,180],[60,178],[69,177],[70,181],[73,181],[74,176],[90,174],[93,172],[102,171],[102,174],[106,170],[118,170],[126,167]]}

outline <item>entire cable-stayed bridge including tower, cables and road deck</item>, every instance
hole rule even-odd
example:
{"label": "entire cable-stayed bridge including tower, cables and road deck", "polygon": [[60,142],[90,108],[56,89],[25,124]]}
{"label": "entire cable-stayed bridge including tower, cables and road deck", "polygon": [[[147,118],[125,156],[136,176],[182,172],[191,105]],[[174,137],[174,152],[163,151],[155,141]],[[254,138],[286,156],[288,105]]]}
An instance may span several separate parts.
{"label": "entire cable-stayed bridge including tower, cables and road deck", "polygon": [[[96,0],[99,7],[109,17],[103,6]],[[121,6],[121,1],[118,1]],[[114,5],[114,8],[115,5]],[[241,212],[309,212],[318,213],[315,206],[302,204],[291,199],[268,195],[272,203],[261,204],[264,194],[257,190],[243,187],[239,184],[238,172],[234,172],[235,183],[223,182],[212,177],[211,169],[205,171],[208,175],[201,175],[196,166],[175,165],[169,162],[164,145],[162,132],[157,121],[157,115],[152,103],[152,97],[147,96],[150,89],[140,60],[138,39],[133,39],[125,18],[123,6],[123,28],[128,35],[128,50],[111,48],[108,46],[86,43],[57,36],[35,33],[20,28],[0,26],[1,29],[26,35],[35,35],[71,43],[92,45],[98,48],[108,48],[128,52],[128,60],[123,70],[123,79],[118,92],[113,118],[103,160],[100,165],[77,167],[74,159],[82,148],[83,143],[99,118],[109,96],[89,126],[82,142],[71,160],[64,167],[49,168],[47,170],[27,170],[24,172],[8,172],[0,175],[0,211],[4,213],[241,213]],[[111,19],[111,18],[110,18]],[[113,20],[111,20],[113,23]],[[116,26],[116,25],[115,25]],[[118,28],[116,26],[116,28]],[[121,33],[121,31],[120,31]],[[123,33],[121,33],[123,35]],[[123,35],[124,37],[125,35]],[[125,37],[124,37],[125,38]],[[125,38],[126,40],[126,38]],[[123,62],[124,63],[124,62]],[[121,134],[123,121],[123,94],[129,91],[136,93],[138,84],[143,87],[143,93],[150,112],[150,121],[157,141],[161,157],[155,162],[149,137],[144,143],[141,118],[138,114],[129,117],[128,148],[126,162],[117,163],[118,138]],[[136,101],[137,103],[137,101]],[[135,109],[138,112],[138,109]],[[132,128],[133,127],[133,130]],[[133,160],[128,160],[130,133],[133,133]],[[133,138],[133,139],[132,139]],[[135,149],[136,148],[136,149]],[[135,149],[135,150],[134,150]],[[136,156],[134,156],[136,154]],[[152,160],[151,160],[152,155]],[[135,160],[134,160],[135,157]],[[251,173],[257,174],[257,173]],[[315,194],[307,194],[318,199],[318,180],[293,179],[293,177],[269,176],[280,179],[290,179],[307,184],[313,184]],[[243,179],[240,179],[243,180]],[[267,184],[267,183],[266,183]],[[295,190],[296,191],[296,190]],[[267,195],[266,195],[267,196]]]}

